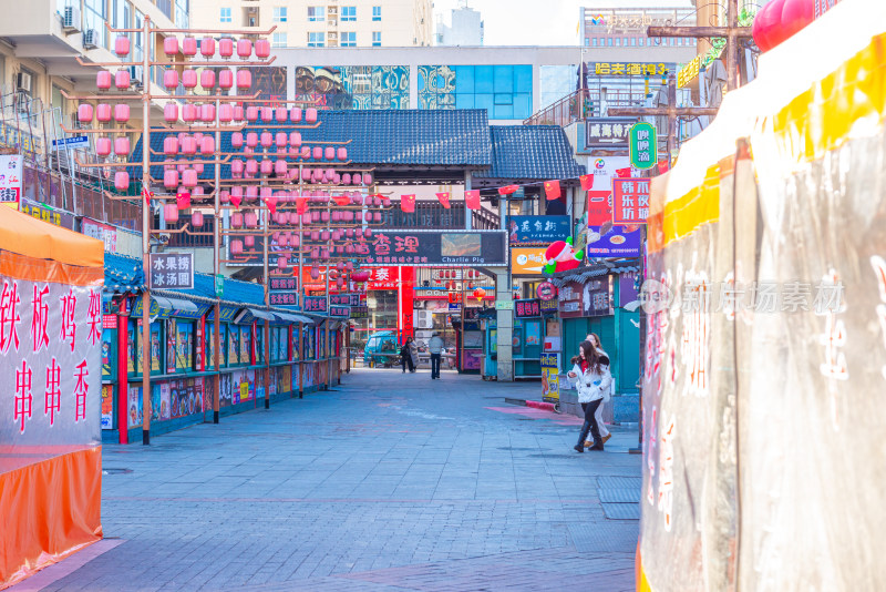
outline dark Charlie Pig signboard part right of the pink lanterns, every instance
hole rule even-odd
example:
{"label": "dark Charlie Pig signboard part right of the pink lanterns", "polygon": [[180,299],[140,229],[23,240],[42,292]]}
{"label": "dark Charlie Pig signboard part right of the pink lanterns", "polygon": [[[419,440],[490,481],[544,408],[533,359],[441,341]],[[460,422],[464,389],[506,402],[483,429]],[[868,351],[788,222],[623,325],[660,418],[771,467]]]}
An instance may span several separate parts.
{"label": "dark Charlie Pig signboard part right of the pink lanterns", "polygon": [[503,231],[382,231],[356,246],[370,265],[505,265],[506,241]]}

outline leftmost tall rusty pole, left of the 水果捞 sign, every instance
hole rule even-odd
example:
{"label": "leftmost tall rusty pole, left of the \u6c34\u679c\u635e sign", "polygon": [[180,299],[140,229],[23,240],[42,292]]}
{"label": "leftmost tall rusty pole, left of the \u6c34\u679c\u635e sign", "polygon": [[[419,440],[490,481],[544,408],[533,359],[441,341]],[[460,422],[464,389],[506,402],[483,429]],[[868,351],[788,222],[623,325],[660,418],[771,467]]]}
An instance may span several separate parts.
{"label": "leftmost tall rusty pole, left of the \u6c34\u679c\u635e sign", "polygon": [[[151,76],[151,17],[145,14],[144,35],[147,48],[144,52],[145,76]],[[151,99],[150,84],[142,93],[142,266],[145,271],[145,289],[142,294],[142,443],[151,443]],[[157,344],[159,347],[159,344]],[[157,351],[159,355],[159,351]]]}

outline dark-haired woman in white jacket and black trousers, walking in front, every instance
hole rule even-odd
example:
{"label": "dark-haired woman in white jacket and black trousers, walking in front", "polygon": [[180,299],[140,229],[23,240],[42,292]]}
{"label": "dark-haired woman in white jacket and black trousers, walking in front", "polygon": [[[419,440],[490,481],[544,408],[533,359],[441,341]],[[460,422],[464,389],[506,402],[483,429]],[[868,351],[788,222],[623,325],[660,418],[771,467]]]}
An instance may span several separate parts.
{"label": "dark-haired woman in white jacket and black trousers, walking in front", "polygon": [[581,410],[585,412],[585,422],[578,435],[578,443],[573,448],[577,452],[585,451],[585,439],[589,430],[594,437],[594,446],[590,450],[602,450],[602,438],[595,414],[602,402],[602,394],[612,381],[609,374],[609,358],[598,354],[590,341],[581,341],[578,346],[578,355],[571,361],[573,369],[567,376],[569,381],[576,385],[578,402],[581,404]]}

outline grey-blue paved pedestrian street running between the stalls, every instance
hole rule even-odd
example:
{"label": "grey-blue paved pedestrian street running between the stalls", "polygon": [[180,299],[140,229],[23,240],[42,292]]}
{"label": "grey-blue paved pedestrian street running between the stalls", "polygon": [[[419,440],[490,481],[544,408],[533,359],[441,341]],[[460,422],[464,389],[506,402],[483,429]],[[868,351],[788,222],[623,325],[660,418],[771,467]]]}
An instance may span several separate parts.
{"label": "grey-blue paved pedestrian street running between the stalls", "polygon": [[632,591],[637,432],[578,455],[577,419],[504,402],[539,388],[354,370],[105,446],[110,540],[12,590]]}

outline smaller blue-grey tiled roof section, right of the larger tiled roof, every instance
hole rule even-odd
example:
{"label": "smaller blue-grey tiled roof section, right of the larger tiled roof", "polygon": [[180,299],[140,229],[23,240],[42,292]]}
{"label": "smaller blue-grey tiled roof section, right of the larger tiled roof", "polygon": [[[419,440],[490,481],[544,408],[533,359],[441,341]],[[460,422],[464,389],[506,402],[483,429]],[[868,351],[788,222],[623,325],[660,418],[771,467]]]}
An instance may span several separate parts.
{"label": "smaller blue-grey tiled roof section, right of the larger tiled roof", "polygon": [[492,167],[477,178],[504,181],[575,178],[585,166],[575,162],[573,149],[558,125],[492,125]]}

